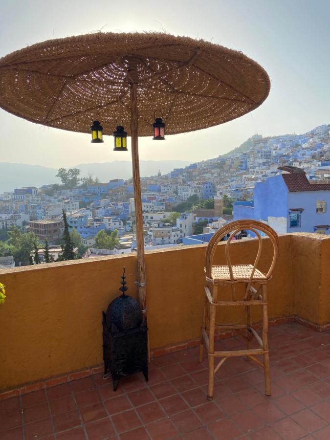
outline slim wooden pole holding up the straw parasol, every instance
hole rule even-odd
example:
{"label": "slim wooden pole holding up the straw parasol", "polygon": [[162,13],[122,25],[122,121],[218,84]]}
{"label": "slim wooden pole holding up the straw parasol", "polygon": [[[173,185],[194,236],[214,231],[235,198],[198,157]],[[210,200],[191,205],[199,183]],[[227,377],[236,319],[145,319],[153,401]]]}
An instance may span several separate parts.
{"label": "slim wooden pole holding up the straw parasol", "polygon": [[[131,139],[132,139],[132,168],[136,226],[136,256],[137,256],[137,288],[139,303],[144,317],[147,317],[146,301],[146,272],[144,259],[143,216],[141,200],[140,164],[138,149],[138,112],[137,112],[137,69],[134,60],[130,60],[128,68],[131,86]],[[150,346],[148,337],[148,359],[150,361]]]}

